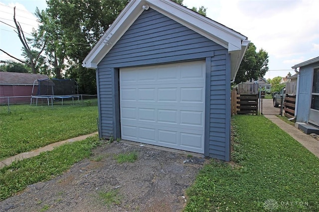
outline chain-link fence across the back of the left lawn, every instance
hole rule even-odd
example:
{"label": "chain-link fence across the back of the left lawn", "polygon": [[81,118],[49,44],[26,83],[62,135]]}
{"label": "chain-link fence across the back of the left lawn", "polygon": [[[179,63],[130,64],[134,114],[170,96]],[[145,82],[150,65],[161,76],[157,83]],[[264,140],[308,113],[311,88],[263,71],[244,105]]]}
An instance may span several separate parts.
{"label": "chain-link fence across the back of the left lawn", "polygon": [[55,106],[93,106],[97,105],[97,95],[68,96],[17,96],[0,97],[0,114],[23,110],[27,107]]}

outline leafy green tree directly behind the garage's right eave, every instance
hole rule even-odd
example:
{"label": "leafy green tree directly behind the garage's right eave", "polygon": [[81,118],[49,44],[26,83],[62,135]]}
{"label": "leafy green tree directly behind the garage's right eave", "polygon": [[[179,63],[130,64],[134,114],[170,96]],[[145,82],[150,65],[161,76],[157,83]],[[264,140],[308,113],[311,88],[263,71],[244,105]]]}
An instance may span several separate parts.
{"label": "leafy green tree directly behind the garage's right eave", "polygon": [[268,53],[263,49],[256,52],[256,46],[250,43],[239,66],[235,83],[264,77],[269,69],[268,62]]}

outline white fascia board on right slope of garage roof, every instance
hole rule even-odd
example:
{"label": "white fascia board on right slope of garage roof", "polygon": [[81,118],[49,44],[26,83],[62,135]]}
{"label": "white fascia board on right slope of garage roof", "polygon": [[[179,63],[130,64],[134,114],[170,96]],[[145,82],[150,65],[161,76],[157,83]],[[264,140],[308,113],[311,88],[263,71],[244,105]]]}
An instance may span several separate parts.
{"label": "white fascia board on right slope of garage roof", "polygon": [[170,0],[146,1],[151,8],[227,49],[231,43],[237,47],[236,50],[240,50],[241,40],[247,39],[246,36]]}

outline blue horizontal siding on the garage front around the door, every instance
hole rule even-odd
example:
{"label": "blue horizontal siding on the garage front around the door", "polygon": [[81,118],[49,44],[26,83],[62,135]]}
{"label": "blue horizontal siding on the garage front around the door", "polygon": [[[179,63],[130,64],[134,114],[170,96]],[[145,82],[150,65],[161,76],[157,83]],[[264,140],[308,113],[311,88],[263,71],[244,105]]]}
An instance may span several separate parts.
{"label": "blue horizontal siding on the garage front around the door", "polygon": [[[227,107],[225,108],[225,104],[230,103],[230,100],[227,100],[230,95],[230,93],[227,95],[228,90],[230,92],[230,76],[226,74],[226,63],[229,62],[228,51],[152,8],[145,10],[138,17],[98,64],[97,82],[100,91],[102,137],[121,136],[120,121],[114,118],[119,117],[119,108],[114,106],[114,103],[118,104],[119,68],[192,60],[206,61],[206,69],[208,68],[205,155],[228,160],[225,157],[228,148],[225,144],[226,132],[230,128],[226,126],[228,112]],[[230,69],[227,71],[230,73]]]}

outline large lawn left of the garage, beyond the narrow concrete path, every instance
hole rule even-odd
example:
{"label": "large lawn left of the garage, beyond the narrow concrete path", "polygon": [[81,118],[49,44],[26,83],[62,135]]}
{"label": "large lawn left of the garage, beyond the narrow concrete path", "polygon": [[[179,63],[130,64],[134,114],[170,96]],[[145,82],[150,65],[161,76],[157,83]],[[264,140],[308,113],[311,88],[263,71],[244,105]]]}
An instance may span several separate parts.
{"label": "large lawn left of the garage, beyond the narrow concrete path", "polygon": [[0,160],[97,131],[97,106],[0,106]]}

